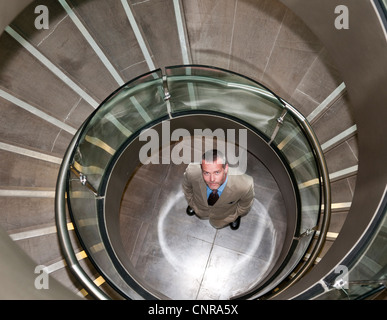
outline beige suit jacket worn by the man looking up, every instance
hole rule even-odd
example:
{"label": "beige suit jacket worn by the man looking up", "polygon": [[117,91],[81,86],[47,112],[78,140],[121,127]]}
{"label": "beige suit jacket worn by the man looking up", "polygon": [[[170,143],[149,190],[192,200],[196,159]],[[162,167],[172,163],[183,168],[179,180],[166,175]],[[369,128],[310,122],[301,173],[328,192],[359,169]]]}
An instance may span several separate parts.
{"label": "beige suit jacket worn by the man looking up", "polygon": [[228,181],[218,201],[207,204],[207,186],[200,164],[189,164],[183,179],[183,192],[188,205],[198,217],[209,219],[212,226],[222,228],[246,215],[254,202],[253,178],[246,175],[228,175]]}

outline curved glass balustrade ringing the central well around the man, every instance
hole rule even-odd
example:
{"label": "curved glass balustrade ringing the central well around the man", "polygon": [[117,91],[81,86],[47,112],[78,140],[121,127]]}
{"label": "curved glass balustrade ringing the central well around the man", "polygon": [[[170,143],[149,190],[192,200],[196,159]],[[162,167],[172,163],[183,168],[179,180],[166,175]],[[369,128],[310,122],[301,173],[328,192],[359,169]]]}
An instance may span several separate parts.
{"label": "curved glass balustrade ringing the central well around the man", "polygon": [[[98,270],[125,297],[153,297],[135,279],[128,281],[117,272],[112,261],[114,253],[104,244],[103,239],[109,238],[104,234],[106,181],[109,168],[129,140],[147,127],[185,114],[223,115],[259,133],[283,159],[298,194],[298,228],[286,265],[264,286],[260,284],[243,297],[254,298],[267,292],[269,282],[278,285],[300,263],[318,231],[318,240],[309,249],[310,259],[299,269],[301,276],[322,247],[330,216],[329,178],[317,139],[305,118],[269,89],[241,75],[207,66],[169,67],[165,75],[159,69],[127,83],[89,117],[73,142],[74,148],[70,146],[58,185],[67,183],[71,218],[82,246]],[[62,221],[65,196],[61,188],[57,216]],[[58,227],[60,236],[68,237],[63,224]],[[62,240],[66,241],[68,244],[68,240]],[[70,246],[64,247],[66,259],[76,264],[71,259]],[[77,273],[77,268],[73,269]],[[88,280],[83,282],[93,286]]]}

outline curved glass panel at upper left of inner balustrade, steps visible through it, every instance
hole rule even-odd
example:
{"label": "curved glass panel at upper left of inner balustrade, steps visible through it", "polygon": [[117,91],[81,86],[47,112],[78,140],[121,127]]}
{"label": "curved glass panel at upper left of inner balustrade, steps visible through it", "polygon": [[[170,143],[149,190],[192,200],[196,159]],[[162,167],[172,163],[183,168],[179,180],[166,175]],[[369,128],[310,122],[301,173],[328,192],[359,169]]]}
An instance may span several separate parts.
{"label": "curved glass panel at upper left of inner balustrade, steps visible through it", "polygon": [[90,119],[74,155],[74,167],[98,190],[105,169],[120,146],[133,133],[166,115],[161,70],[126,84]]}

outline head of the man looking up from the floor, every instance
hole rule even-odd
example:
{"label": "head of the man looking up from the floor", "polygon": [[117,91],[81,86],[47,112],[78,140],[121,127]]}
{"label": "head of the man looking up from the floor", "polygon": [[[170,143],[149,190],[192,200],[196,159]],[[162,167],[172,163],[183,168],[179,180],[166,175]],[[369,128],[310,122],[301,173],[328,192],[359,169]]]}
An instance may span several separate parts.
{"label": "head of the man looking up from the floor", "polygon": [[219,189],[226,181],[228,173],[228,163],[225,155],[214,149],[203,154],[202,157],[203,179],[210,189]]}

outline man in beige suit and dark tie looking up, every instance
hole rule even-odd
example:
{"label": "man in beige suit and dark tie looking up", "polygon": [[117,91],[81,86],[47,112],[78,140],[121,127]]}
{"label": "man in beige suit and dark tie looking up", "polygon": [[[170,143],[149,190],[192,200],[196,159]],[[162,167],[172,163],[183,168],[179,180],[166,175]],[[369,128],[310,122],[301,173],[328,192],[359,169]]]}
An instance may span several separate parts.
{"label": "man in beige suit and dark tie looking up", "polygon": [[218,150],[203,154],[201,164],[189,164],[183,179],[187,214],[209,219],[215,228],[237,230],[254,202],[253,178],[229,175],[226,157]]}

